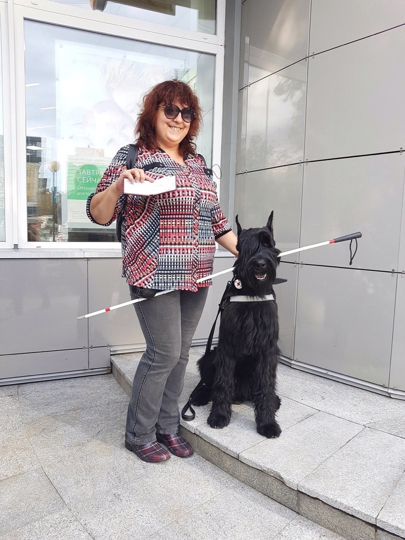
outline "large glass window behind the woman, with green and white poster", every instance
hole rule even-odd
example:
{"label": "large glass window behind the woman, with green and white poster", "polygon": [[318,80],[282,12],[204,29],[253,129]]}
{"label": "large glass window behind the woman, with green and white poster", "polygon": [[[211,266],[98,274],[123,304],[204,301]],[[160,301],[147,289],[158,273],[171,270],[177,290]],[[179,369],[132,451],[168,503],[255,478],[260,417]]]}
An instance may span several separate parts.
{"label": "large glass window behind the woman, with green and white poster", "polygon": [[162,80],[200,97],[197,148],[211,163],[214,69],[213,55],[25,21],[28,240],[116,241],[115,223],[89,221],[86,200]]}

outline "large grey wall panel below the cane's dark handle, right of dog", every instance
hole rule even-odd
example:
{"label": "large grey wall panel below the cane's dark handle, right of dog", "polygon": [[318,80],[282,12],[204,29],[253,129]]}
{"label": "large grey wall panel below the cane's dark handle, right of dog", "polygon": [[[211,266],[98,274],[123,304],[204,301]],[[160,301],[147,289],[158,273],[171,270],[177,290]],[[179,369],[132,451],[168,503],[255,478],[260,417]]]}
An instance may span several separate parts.
{"label": "large grey wall panel below the cane's dark handle, right of dog", "polygon": [[303,266],[295,359],[388,386],[396,274]]}

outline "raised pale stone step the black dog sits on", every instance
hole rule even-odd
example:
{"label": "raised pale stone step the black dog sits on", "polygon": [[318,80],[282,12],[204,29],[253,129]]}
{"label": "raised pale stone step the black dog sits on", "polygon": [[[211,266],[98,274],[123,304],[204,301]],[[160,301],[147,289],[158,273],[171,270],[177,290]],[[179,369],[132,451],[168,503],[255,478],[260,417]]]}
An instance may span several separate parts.
{"label": "raised pale stone step the black dog sits on", "polygon": [[[192,347],[180,406],[200,377]],[[142,353],[111,356],[130,394]],[[405,538],[405,402],[280,365],[278,439],[255,428],[251,404],[233,406],[224,429],[207,424],[209,406],[181,421],[197,454],[310,521],[348,540]]]}

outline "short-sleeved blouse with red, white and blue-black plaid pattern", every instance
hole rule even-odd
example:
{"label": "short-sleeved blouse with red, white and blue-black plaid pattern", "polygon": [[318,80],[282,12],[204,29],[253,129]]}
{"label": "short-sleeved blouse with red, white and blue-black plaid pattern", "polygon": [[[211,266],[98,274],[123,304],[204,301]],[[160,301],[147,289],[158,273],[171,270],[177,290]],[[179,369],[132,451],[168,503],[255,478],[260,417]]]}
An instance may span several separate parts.
{"label": "short-sleeved blouse with red, white and blue-black plaid pattern", "polygon": [[[105,190],[127,168],[129,146],[112,159],[96,192]],[[216,194],[216,184],[205,172],[200,158],[189,157],[186,165],[172,160],[163,150],[139,149],[137,168],[147,168],[151,177],[176,176],[176,190],[158,195],[121,195],[108,226],[123,211],[122,276],[130,285],[152,289],[186,289],[211,285],[197,279],[213,272],[215,240],[231,231]],[[90,201],[95,195],[89,195]]]}

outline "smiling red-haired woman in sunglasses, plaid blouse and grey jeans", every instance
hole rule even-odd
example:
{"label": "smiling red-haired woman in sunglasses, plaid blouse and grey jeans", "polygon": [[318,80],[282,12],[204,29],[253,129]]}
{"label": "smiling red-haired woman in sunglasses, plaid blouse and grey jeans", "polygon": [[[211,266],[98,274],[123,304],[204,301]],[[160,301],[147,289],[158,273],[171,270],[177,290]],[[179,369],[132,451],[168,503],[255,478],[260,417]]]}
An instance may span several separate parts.
{"label": "smiling red-haired woman in sunglasses, plaid blouse and grey jeans", "polygon": [[[125,433],[125,447],[148,462],[168,460],[169,451],[192,454],[178,435],[178,401],[211,285],[197,280],[212,273],[215,240],[237,255],[215,183],[196,154],[201,118],[198,98],[187,84],[156,85],[144,97],[136,124],[136,168],[127,170],[128,146],[123,147],[87,205],[89,218],[101,225],[110,225],[123,211],[123,276],[132,299],[148,298],[135,304],[147,348],[132,383]],[[125,178],[132,184],[153,182],[162,174],[176,177],[175,191],[123,194]],[[175,290],[152,298],[168,289]]]}

